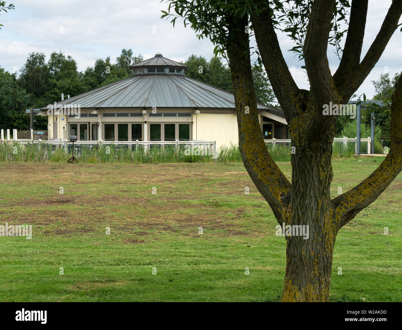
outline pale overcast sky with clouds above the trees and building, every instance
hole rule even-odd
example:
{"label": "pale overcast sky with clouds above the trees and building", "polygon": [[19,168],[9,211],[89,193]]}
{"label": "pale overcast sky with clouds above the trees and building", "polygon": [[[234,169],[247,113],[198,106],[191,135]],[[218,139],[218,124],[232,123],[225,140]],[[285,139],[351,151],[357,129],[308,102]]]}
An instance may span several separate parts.
{"label": "pale overcast sky with clouds above the trees and building", "polygon": [[[10,1],[7,1],[9,3]],[[15,10],[0,16],[0,67],[9,72],[19,70],[31,52],[43,52],[47,59],[53,51],[71,55],[78,70],[93,66],[96,58],[111,56],[112,62],[122,48],[131,48],[134,54],[144,59],[161,52],[164,57],[184,61],[191,54],[213,56],[213,44],[209,40],[198,40],[189,27],[181,21],[173,27],[170,21],[160,19],[166,3],[160,0],[15,0]],[[369,12],[362,58],[375,38],[391,0],[369,1]],[[377,80],[387,70],[390,76],[402,70],[402,35],[394,32],[379,62],[356,94],[374,94],[371,80]],[[302,62],[287,52],[293,47],[289,38],[279,35],[279,43],[285,60],[294,66],[293,77],[300,88],[309,89],[307,75],[300,68]],[[328,50],[332,73],[338,66],[333,50]],[[385,67],[385,68],[384,68]]]}

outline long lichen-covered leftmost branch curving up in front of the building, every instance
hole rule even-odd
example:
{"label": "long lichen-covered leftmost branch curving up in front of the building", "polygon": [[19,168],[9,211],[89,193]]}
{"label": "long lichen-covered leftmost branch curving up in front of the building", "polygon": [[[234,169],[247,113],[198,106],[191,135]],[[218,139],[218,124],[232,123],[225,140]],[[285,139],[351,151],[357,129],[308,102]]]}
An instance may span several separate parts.
{"label": "long lichen-covered leftmost branch curving up in front of the building", "polygon": [[278,223],[285,218],[291,184],[267,151],[258,120],[250,63],[247,16],[228,25],[228,58],[232,73],[239,130],[239,147],[244,166],[258,191],[271,206]]}

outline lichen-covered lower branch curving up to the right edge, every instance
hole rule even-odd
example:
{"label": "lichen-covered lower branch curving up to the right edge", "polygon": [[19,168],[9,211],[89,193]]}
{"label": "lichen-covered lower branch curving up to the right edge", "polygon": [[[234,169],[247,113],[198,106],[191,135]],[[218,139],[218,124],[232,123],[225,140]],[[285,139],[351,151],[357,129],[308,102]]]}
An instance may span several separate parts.
{"label": "lichen-covered lower branch curving up to the right edge", "polygon": [[340,214],[340,226],[371,204],[402,170],[402,75],[395,85],[391,104],[391,148],[379,167],[360,184],[332,200]]}

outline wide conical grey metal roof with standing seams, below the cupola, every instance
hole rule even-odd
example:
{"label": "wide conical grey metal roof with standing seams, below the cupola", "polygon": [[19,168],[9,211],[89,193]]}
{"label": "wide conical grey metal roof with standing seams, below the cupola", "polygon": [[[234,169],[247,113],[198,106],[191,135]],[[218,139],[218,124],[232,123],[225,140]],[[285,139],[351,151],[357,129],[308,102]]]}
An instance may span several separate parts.
{"label": "wide conical grey metal roof with standing seams, below the cupola", "polygon": [[[57,102],[57,106],[67,104],[80,105],[81,108],[155,106],[234,109],[235,107],[232,93],[183,74],[134,74],[123,80]],[[273,109],[260,103],[257,107]]]}

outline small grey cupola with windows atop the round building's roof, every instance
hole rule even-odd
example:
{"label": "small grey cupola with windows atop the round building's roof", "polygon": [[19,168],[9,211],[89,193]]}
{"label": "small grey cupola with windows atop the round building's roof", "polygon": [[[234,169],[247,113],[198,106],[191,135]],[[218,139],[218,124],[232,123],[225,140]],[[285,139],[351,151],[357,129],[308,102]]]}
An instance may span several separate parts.
{"label": "small grey cupola with windows atop the round building's roof", "polygon": [[129,66],[133,75],[135,74],[185,74],[188,66],[169,60],[156,53],[153,58],[131,64]]}

